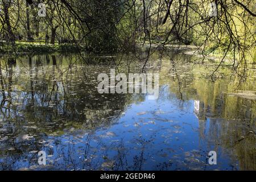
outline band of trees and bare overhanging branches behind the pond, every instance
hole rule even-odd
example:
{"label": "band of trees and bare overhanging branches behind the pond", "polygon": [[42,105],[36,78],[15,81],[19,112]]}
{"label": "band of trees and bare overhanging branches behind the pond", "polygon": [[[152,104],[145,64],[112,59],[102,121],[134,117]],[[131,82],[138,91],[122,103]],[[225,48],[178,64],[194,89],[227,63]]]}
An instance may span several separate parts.
{"label": "band of trees and bare overhanging branches behind the pond", "polygon": [[[216,71],[230,57],[233,69],[243,70],[241,77],[247,62],[256,59],[253,0],[0,2],[2,52],[28,51],[22,49],[24,42],[68,44],[97,53],[136,52],[147,45],[150,56],[169,44],[194,45],[203,56],[222,56]],[[39,3],[46,5],[45,17],[38,15]],[[217,7],[216,16],[209,14],[210,3]]]}

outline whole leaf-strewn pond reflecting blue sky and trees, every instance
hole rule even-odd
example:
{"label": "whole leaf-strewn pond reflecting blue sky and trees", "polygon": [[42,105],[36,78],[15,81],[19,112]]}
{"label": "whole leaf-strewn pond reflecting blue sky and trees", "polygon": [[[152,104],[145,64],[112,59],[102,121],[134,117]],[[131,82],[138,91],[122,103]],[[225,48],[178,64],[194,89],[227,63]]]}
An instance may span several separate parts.
{"label": "whole leaf-strewn pond reflecting blue sky and trees", "polygon": [[[146,55],[140,55],[145,59]],[[97,76],[140,73],[133,55],[0,58],[1,170],[255,170],[256,69],[154,53],[159,97],[97,91]],[[46,152],[46,166],[38,152]],[[217,164],[208,163],[216,151]]]}

